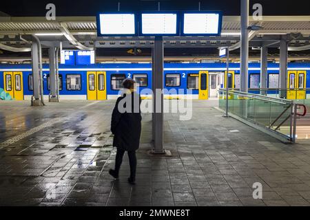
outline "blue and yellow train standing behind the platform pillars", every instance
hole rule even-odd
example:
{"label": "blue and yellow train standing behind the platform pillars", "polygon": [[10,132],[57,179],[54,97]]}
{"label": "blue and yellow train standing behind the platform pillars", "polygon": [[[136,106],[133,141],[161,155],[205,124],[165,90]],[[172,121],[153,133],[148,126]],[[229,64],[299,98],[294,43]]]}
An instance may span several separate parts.
{"label": "blue and yellow train standing behind the platform pillars", "polygon": [[[287,72],[287,98],[302,99],[309,96],[309,64],[289,63]],[[1,65],[0,88],[15,100],[29,100],[33,93],[31,65]],[[277,96],[279,65],[269,63],[267,91]],[[59,94],[65,100],[115,99],[122,89],[125,78],[138,83],[138,92],[149,98],[152,89],[152,66],[150,64],[97,64],[60,65]],[[249,92],[259,93],[260,64],[249,63]],[[218,98],[218,88],[240,88],[240,65],[231,63],[226,73],[225,63],[166,63],[163,84],[165,98]],[[275,89],[274,91],[270,89]],[[50,94],[48,65],[43,65],[43,90],[45,98]]]}

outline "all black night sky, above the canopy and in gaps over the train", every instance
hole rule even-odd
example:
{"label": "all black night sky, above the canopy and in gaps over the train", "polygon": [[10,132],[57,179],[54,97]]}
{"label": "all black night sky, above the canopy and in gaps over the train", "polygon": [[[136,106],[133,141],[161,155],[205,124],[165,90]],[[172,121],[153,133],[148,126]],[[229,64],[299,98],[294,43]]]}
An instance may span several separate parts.
{"label": "all black night sky, above the canopy and in gaps over the train", "polygon": [[[1,1],[0,17],[44,17],[47,10],[45,6],[48,3],[56,5],[56,16],[95,16],[98,12],[115,12],[118,10],[120,2],[121,12],[139,12],[158,10],[158,2],[161,3],[161,10],[221,10],[223,15],[236,16],[240,15],[240,0],[14,0]],[[249,12],[253,12],[254,3],[262,4],[262,15],[268,16],[298,16],[310,15],[309,0],[249,0]],[[1,13],[2,12],[2,13]],[[99,56],[133,56],[127,54],[126,48],[106,48],[97,50]],[[216,48],[167,48],[166,56],[198,56],[205,54],[217,54]],[[233,54],[238,54],[238,50]],[[278,50],[272,48],[269,54],[277,54]],[[251,51],[251,55],[259,56],[258,51]],[[17,56],[10,52],[0,53],[1,56]],[[48,56],[48,52],[43,50],[43,55]],[[29,53],[19,53],[18,56],[30,56]],[[135,56],[150,56],[150,50],[144,48],[141,54]]]}

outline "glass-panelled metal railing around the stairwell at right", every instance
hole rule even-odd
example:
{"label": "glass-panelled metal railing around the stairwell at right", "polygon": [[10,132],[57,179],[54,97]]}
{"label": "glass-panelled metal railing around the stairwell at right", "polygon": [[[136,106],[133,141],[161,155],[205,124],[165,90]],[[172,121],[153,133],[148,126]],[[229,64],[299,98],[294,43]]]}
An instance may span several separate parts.
{"label": "glass-panelled metal railing around the stairwell at right", "polygon": [[[296,120],[306,113],[304,104],[293,100],[219,89],[219,108],[229,116],[268,133],[282,142],[296,142]],[[228,95],[228,96],[227,96]],[[304,109],[299,113],[298,109]]]}

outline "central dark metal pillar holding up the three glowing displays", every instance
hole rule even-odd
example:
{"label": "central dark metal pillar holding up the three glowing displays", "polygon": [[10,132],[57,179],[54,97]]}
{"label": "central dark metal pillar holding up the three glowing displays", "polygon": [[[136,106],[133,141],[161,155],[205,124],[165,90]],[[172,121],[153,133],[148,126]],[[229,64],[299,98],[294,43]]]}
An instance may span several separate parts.
{"label": "central dark metal pillar holding up the three glowing displays", "polygon": [[153,153],[165,153],[163,148],[163,37],[156,36],[154,41],[154,50],[152,58],[153,70]]}

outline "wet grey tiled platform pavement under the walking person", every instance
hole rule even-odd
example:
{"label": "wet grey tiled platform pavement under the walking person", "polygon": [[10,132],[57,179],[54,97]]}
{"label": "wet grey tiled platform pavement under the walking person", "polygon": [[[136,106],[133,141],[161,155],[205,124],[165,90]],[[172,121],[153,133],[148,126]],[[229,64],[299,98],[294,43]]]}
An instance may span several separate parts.
{"label": "wet grey tiled platform pavement under the walking person", "polygon": [[[149,155],[151,116],[143,115],[137,184],[130,186],[126,155],[120,179],[107,174],[114,101],[0,102],[0,205],[309,206],[309,144],[282,144],[222,118],[215,103],[194,101],[189,121],[165,114],[172,157]],[[252,197],[255,182],[262,199]]]}

